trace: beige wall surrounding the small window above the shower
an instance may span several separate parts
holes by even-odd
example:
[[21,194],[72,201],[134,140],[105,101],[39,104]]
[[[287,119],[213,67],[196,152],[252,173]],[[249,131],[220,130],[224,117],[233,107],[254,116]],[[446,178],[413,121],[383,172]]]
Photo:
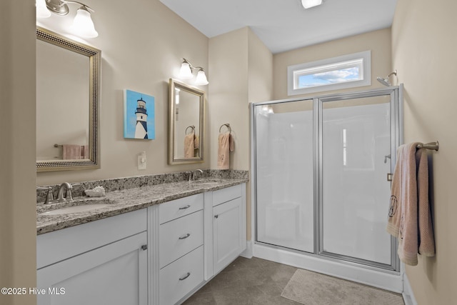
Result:
[[[371,86],[296,96],[287,95],[288,66],[368,50],[371,50]],[[376,81],[376,76],[386,76],[391,73],[391,29],[371,31],[365,34],[328,41],[323,44],[315,44],[301,49],[274,54],[273,63],[274,99],[289,99],[298,96],[317,96],[334,92],[361,91],[379,88],[383,85]]]

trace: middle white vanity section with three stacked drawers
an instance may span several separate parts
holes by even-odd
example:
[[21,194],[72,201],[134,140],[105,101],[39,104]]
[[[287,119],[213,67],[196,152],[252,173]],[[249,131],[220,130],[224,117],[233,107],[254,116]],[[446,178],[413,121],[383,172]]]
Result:
[[156,282],[151,304],[176,304],[204,281],[203,209],[203,194],[149,208],[150,222],[156,223],[151,244],[157,245],[151,252],[156,262],[151,264],[151,282]]

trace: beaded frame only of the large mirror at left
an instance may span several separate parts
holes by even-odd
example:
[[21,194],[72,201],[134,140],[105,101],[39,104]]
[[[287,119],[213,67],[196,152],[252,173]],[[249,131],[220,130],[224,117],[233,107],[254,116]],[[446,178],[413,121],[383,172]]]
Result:
[[36,171],[68,171],[74,169],[99,169],[99,77],[101,51],[81,44],[41,27],[36,28],[36,39],[89,57],[89,159],[36,161]]

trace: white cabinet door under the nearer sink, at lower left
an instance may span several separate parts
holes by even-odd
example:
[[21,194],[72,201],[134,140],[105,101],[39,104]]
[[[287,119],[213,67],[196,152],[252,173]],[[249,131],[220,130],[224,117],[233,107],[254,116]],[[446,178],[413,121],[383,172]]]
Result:
[[147,304],[146,232],[37,271],[38,305]]

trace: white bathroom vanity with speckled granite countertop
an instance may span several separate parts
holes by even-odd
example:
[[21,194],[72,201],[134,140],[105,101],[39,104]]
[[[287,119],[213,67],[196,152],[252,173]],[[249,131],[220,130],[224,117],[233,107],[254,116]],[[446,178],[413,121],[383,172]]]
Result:
[[41,211],[38,304],[180,304],[246,249],[245,182],[158,184],[109,192],[100,209]]

